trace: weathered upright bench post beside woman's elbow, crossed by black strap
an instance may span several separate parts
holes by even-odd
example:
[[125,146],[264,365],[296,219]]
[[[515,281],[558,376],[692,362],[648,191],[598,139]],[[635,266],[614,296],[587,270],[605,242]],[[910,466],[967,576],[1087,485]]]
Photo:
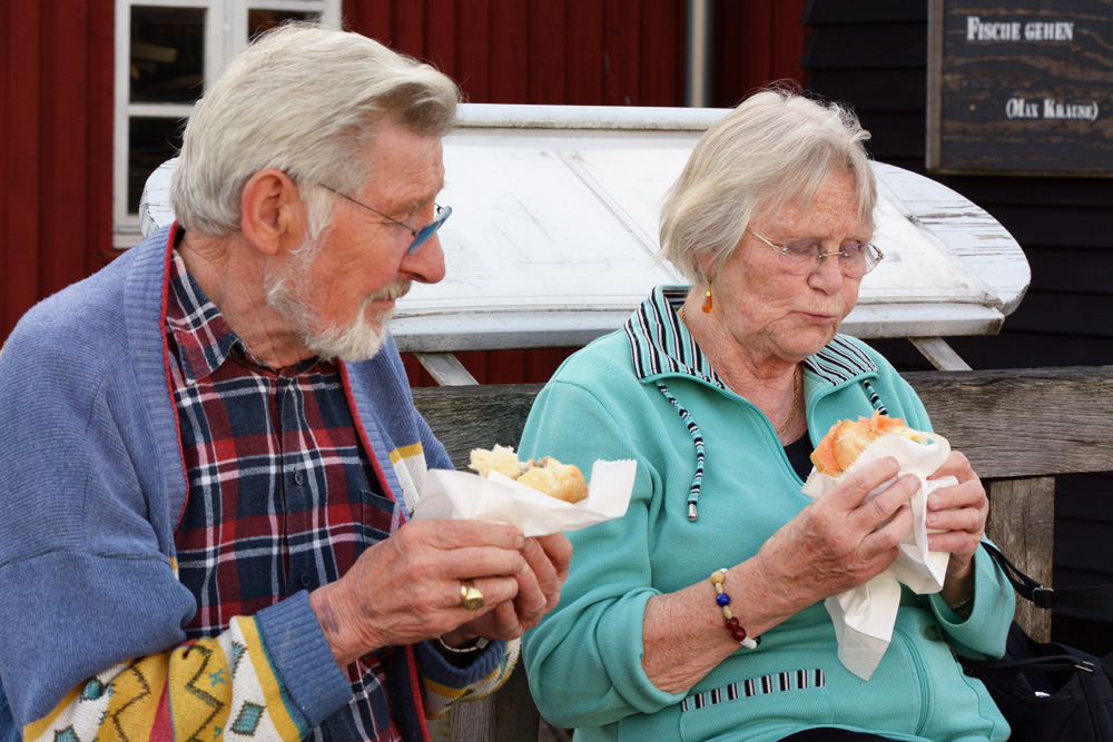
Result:
[[[989,523],[986,535],[1009,561],[1042,585],[1052,585],[1055,479],[989,482]],[[1051,611],[1016,598],[1016,622],[1040,642],[1051,641]]]

